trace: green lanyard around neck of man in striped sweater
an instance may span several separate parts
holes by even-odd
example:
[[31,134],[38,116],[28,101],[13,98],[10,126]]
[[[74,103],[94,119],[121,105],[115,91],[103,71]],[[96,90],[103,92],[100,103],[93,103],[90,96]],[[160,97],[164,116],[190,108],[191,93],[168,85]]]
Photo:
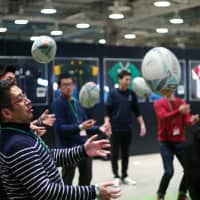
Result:
[[11,130],[11,131],[18,131],[24,135],[28,135],[30,137],[32,137],[33,139],[37,140],[49,153],[49,147],[47,146],[47,144],[45,144],[45,142],[41,139],[40,136],[32,133],[32,132],[28,132],[28,131],[23,131],[21,129],[18,128],[12,128],[12,127],[5,127],[5,128],[1,128],[1,130]]

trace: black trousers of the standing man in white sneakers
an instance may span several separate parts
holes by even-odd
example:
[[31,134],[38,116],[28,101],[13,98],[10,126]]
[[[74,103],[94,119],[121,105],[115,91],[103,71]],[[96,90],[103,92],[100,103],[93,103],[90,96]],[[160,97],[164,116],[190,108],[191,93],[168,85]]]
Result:
[[128,176],[128,160],[129,160],[129,149],[132,139],[131,131],[127,132],[113,132],[110,138],[111,141],[111,165],[112,171],[115,178],[119,178],[118,172],[118,160],[119,160],[119,153],[121,152],[121,159],[122,159],[122,172],[121,178],[125,178]]

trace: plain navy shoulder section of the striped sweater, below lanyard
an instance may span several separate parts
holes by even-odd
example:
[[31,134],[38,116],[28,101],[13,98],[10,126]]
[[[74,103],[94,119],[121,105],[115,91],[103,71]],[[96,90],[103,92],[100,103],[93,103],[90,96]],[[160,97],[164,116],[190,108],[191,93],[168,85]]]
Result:
[[22,150],[34,149],[38,144],[35,139],[23,134],[7,134],[0,143],[0,153],[7,157]]

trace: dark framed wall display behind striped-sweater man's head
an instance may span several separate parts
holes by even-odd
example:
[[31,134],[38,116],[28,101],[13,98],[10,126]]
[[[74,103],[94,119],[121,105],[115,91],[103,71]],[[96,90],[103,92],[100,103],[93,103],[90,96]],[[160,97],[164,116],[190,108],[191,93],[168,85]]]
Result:
[[35,62],[31,57],[22,56],[0,56],[0,65],[16,67],[17,84],[32,101],[33,106],[48,105],[46,65]]

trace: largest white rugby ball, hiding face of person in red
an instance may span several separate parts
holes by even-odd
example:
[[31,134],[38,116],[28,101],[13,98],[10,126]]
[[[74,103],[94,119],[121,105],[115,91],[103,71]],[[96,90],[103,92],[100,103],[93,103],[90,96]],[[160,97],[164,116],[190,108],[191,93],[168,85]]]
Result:
[[181,79],[181,67],[176,56],[167,48],[149,50],[142,61],[142,76],[154,92],[175,90]]

